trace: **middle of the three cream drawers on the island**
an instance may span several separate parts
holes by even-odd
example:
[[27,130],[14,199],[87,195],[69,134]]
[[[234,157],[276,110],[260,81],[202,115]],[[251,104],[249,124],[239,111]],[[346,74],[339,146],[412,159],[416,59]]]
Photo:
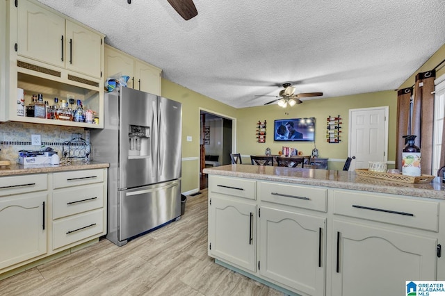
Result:
[[327,189],[325,188],[260,182],[258,192],[261,202],[273,202],[274,204],[321,212],[327,211]]

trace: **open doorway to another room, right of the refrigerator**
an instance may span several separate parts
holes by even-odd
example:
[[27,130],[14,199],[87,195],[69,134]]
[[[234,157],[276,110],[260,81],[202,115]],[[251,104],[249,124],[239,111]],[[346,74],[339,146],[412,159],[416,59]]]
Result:
[[234,118],[200,110],[200,190],[207,188],[205,167],[229,165],[234,147]]

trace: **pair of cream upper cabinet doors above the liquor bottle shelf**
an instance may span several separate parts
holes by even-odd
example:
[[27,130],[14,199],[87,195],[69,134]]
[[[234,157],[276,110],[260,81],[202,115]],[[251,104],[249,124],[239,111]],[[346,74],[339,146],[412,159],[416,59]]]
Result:
[[17,21],[17,54],[101,78],[101,35],[26,0]]

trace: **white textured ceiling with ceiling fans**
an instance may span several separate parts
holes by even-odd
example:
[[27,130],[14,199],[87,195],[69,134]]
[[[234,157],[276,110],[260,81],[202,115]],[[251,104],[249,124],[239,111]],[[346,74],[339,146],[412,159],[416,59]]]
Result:
[[[284,82],[328,98],[394,90],[445,43],[444,0],[40,0],[179,85],[241,108]],[[305,101],[306,99],[302,99]]]

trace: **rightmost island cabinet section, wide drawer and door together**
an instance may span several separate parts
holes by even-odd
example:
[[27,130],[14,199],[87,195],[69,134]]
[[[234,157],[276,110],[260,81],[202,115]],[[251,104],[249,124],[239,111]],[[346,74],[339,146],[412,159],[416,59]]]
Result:
[[439,202],[332,190],[331,294],[401,295],[437,279]]

